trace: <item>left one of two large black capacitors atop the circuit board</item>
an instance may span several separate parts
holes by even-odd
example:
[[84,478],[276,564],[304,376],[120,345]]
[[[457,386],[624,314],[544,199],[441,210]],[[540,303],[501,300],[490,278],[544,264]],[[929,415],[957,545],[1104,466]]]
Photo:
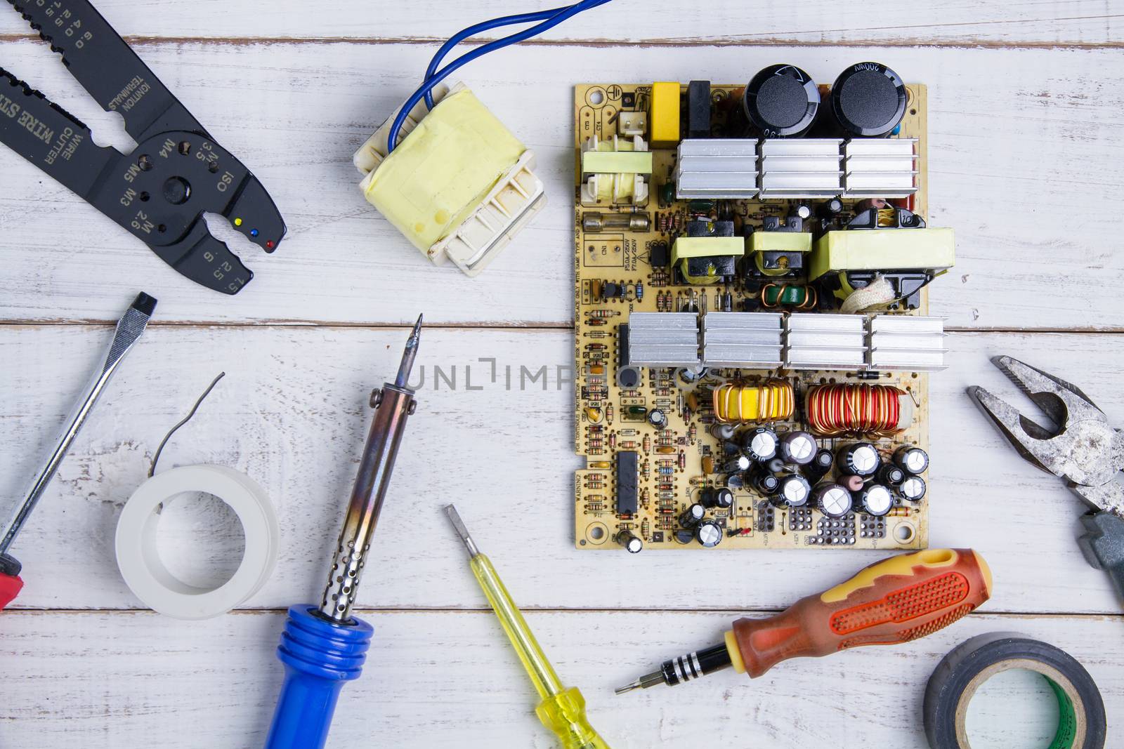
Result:
[[740,109],[747,129],[755,134],[767,138],[799,137],[816,119],[819,89],[796,65],[770,65],[746,84]]

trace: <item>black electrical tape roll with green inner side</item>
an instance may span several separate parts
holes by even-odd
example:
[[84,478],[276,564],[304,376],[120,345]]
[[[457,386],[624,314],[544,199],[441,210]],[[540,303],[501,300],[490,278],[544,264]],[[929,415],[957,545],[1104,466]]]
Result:
[[925,736],[933,749],[969,749],[968,703],[991,676],[1013,668],[1041,674],[1058,698],[1058,731],[1049,749],[1102,749],[1105,703],[1081,664],[1064,650],[1015,632],[989,632],[961,642],[925,687]]

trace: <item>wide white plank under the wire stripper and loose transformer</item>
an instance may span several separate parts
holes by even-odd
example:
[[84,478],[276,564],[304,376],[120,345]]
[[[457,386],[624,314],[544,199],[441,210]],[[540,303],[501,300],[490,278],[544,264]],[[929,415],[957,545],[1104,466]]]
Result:
[[[359,193],[351,154],[416,83],[432,47],[404,44],[158,43],[140,54],[273,194],[290,234],[239,252],[256,272],[228,299],[170,271],[75,195],[0,148],[4,316],[109,320],[120,287],[162,300],[160,320],[564,326],[571,320],[571,86],[637,79],[741,80],[797,60],[831,80],[874,57],[930,91],[931,225],[957,231],[957,267],[933,312],[968,329],[1120,330],[1113,216],[1124,193],[1124,65],[1117,49],[868,47],[518,47],[465,68],[481,99],[538,154],[547,208],[472,280],[434,270]],[[107,117],[38,42],[4,44],[4,65],[92,124]],[[565,61],[565,64],[560,64]],[[110,121],[112,118],[108,118]],[[106,133],[106,130],[101,130]],[[228,228],[228,227],[227,227]],[[229,229],[229,228],[228,228]],[[244,243],[248,245],[248,243]],[[107,283],[89,283],[90,278]],[[108,281],[112,283],[108,283]],[[1062,280],[1064,285],[1061,285]],[[437,291],[439,290],[439,292]],[[405,309],[410,307],[410,309]]]

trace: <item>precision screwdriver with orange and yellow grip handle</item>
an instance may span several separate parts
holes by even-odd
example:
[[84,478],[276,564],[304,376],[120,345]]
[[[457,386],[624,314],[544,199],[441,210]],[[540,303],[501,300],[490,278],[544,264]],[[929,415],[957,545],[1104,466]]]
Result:
[[991,596],[991,570],[971,549],[927,549],[883,559],[845,583],[768,619],[738,619],[722,645],[663,661],[617,689],[674,686],[733,666],[756,678],[788,658],[932,634]]

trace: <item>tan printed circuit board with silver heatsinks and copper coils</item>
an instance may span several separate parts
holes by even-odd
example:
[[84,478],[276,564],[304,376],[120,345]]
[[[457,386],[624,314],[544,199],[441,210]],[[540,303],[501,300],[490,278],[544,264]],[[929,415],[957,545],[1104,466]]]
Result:
[[746,86],[575,86],[578,548],[926,546],[925,284],[951,261],[886,258],[951,230],[925,228],[925,88],[901,89],[888,137],[812,137],[821,111],[771,138]]

